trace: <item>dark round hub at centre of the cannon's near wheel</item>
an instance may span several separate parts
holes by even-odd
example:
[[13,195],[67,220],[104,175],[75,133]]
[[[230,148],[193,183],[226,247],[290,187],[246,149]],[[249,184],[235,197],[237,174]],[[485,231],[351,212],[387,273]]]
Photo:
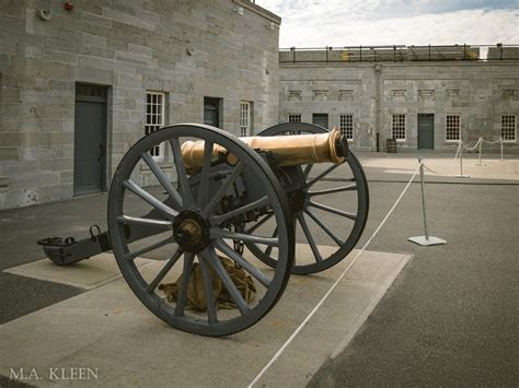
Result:
[[173,237],[183,250],[196,254],[209,245],[209,223],[197,212],[183,211],[173,221]]

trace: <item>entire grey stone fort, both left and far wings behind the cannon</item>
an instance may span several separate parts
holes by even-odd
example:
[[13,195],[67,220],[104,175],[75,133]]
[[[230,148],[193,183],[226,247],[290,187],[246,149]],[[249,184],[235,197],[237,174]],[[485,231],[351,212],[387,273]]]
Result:
[[104,191],[131,144],[175,122],[519,152],[517,47],[278,51],[280,19],[250,0],[0,1],[0,209]]

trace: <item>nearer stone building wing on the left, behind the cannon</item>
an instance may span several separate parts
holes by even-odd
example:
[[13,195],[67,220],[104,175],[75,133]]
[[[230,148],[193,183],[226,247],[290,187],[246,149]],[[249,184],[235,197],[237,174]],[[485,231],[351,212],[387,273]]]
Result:
[[246,0],[1,0],[0,209],[106,190],[168,124],[276,124],[279,23]]

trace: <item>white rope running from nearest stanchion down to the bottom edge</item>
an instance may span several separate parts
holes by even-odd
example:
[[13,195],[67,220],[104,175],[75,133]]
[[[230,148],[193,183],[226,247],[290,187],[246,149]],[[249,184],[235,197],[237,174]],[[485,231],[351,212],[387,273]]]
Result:
[[274,356],[270,358],[270,361],[264,366],[264,368],[257,374],[257,376],[249,384],[249,388],[251,388],[252,386],[254,386],[254,384],[256,384],[260,378],[265,374],[265,372],[268,371],[268,368],[279,358],[279,356],[281,355],[281,353],[285,351],[285,349],[287,349],[287,346],[293,341],[293,339],[296,338],[296,336],[303,329],[303,327],[308,324],[308,321],[310,320],[310,318],[312,318],[314,316],[314,314],[318,311],[319,307],[321,307],[321,305],[324,303],[324,301],[328,297],[328,295],[332,293],[332,291],[334,291],[334,289],[337,286],[337,284],[343,280],[343,278],[346,275],[346,273],[349,271],[349,269],[353,267],[353,264],[355,264],[355,262],[357,261],[357,259],[360,257],[360,255],[362,255],[362,252],[365,251],[366,247],[369,245],[369,243],[371,243],[371,240],[374,238],[374,236],[377,236],[377,234],[379,233],[379,231],[382,228],[382,225],[385,223],[385,221],[389,219],[389,216],[391,215],[391,213],[394,211],[394,209],[396,208],[396,205],[399,204],[400,200],[402,199],[402,197],[404,197],[404,193],[405,191],[407,191],[407,189],[410,188],[411,184],[413,183],[416,174],[418,173],[419,171],[419,167],[424,164],[424,161],[422,161],[418,165],[418,167],[416,167],[413,176],[411,177],[410,181],[407,183],[407,185],[405,186],[404,190],[402,191],[402,193],[400,195],[399,199],[396,200],[396,202],[394,202],[393,207],[390,209],[390,211],[388,212],[388,214],[385,215],[385,217],[382,220],[382,222],[380,223],[380,225],[377,227],[377,230],[373,232],[373,234],[371,235],[371,237],[369,237],[369,239],[366,242],[366,244],[362,246],[362,248],[357,252],[357,255],[353,258],[351,262],[348,264],[348,267],[346,267],[346,269],[343,271],[343,273],[337,278],[337,280],[335,281],[335,283],[333,283],[332,287],[326,292],[326,294],[324,294],[324,296],[321,298],[321,301],[319,301],[319,303],[315,305],[315,307],[310,311],[310,314],[307,316],[307,318],[304,318],[304,320],[299,325],[299,327],[296,329],[296,331],[292,332],[292,334],[288,338],[287,341],[285,341],[285,343],[282,344],[282,346],[277,351],[276,354],[274,354]]

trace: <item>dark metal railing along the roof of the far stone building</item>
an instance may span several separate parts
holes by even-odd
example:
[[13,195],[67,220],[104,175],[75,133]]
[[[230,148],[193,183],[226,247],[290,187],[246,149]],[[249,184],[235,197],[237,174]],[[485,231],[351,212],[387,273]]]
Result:
[[280,48],[280,63],[519,60],[519,45],[344,46]]

